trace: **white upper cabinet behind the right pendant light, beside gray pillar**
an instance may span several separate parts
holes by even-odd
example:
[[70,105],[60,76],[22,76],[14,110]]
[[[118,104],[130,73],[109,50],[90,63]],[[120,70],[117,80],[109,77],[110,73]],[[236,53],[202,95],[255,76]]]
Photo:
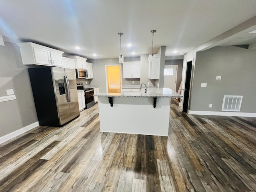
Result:
[[155,54],[155,58],[151,62],[148,56],[148,78],[149,79],[159,79],[160,74],[160,54]]

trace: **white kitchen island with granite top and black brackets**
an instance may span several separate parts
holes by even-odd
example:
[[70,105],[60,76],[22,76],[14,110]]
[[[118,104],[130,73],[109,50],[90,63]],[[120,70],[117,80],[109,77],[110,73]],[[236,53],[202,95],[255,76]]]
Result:
[[180,94],[169,88],[144,93],[98,93],[100,131],[168,136],[170,99]]

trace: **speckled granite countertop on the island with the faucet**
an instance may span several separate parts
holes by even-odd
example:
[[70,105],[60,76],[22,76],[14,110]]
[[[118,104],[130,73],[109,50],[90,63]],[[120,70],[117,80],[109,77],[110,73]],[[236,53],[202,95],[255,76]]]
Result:
[[174,92],[169,88],[147,88],[147,93],[144,89],[140,93],[97,93],[94,96],[98,97],[168,97],[168,98],[181,98],[180,94]]

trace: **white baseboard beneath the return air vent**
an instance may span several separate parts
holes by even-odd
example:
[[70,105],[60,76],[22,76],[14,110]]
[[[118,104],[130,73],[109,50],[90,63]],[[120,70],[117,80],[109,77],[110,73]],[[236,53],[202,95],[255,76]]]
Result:
[[218,115],[218,116],[238,116],[238,117],[256,117],[256,113],[241,113],[241,112],[218,112],[218,111],[190,111],[190,115]]

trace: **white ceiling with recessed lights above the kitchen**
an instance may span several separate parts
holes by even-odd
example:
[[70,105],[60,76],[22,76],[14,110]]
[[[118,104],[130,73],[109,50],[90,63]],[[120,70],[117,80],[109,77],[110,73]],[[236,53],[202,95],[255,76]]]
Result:
[[[154,53],[166,46],[173,56],[254,16],[256,0],[0,0],[0,35],[86,58],[117,58],[118,32],[122,55],[131,57],[151,53],[154,29]],[[256,40],[249,38],[246,43]]]

